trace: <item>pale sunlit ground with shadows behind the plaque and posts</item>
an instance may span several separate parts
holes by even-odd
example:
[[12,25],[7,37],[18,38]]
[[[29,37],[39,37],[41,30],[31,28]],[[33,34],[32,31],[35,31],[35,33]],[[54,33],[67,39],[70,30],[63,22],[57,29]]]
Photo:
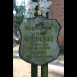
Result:
[[[13,77],[31,77],[31,64],[19,57],[19,45],[13,47]],[[38,66],[38,77],[41,77],[41,66]],[[48,64],[48,77],[64,77],[64,55]]]

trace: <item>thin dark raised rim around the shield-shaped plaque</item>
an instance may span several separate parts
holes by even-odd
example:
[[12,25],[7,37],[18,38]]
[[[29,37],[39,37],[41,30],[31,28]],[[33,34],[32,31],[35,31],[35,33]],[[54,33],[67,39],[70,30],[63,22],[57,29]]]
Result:
[[[42,17],[42,16],[37,16],[37,17]],[[19,27],[20,27],[20,25],[22,24],[22,22],[23,22],[24,19],[29,20],[29,19],[34,19],[34,18],[37,18],[37,17],[33,17],[33,18],[23,18],[22,21],[21,21],[21,23],[20,23],[19,26],[18,26],[18,30],[19,30],[19,33],[20,33],[20,45],[19,45],[19,50],[18,50],[18,52],[19,52],[19,57],[20,57],[22,60],[24,60],[24,59],[20,56],[20,47],[21,47],[21,41],[22,41],[22,34],[21,34],[21,31],[20,31],[20,28],[19,28]],[[60,25],[60,23],[59,23],[56,19],[49,19],[49,18],[46,18],[46,17],[43,17],[43,18],[45,18],[45,19],[47,19],[47,20],[52,20],[52,22],[55,20],[55,21],[59,24],[59,27],[60,27],[60,28],[59,28],[58,35],[57,35],[57,44],[58,44],[58,46],[59,46],[59,53],[58,53],[58,56],[59,56],[59,54],[60,54],[60,45],[59,45],[59,42],[58,42],[58,36],[59,36],[60,30],[61,30],[61,25]],[[57,56],[55,59],[57,59],[58,56]],[[53,59],[52,61],[46,62],[46,63],[44,63],[44,64],[53,62],[55,59]],[[33,63],[33,62],[28,62],[27,60],[24,60],[24,61],[26,61],[27,63],[30,63],[30,64],[39,65],[39,64],[35,64],[35,63]],[[40,65],[44,65],[44,64],[40,64]]]

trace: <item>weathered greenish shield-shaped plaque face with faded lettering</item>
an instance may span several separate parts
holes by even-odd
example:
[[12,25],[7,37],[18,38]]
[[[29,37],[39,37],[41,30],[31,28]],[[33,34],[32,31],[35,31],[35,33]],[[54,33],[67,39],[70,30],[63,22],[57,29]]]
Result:
[[32,19],[24,18],[19,31],[21,34],[19,56],[23,60],[43,65],[58,57],[60,25],[56,20],[41,16]]

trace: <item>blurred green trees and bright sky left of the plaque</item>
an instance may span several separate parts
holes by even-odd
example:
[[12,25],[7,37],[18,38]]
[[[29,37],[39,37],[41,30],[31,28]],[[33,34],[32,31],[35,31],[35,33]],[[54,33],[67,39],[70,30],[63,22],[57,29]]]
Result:
[[25,0],[13,0],[13,44],[19,43],[20,34],[18,26],[23,20],[25,13]]

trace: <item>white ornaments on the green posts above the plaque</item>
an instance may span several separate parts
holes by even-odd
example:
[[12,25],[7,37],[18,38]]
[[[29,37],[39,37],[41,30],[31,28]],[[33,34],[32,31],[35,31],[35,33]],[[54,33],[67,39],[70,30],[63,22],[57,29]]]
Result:
[[42,13],[43,17],[46,17],[46,13],[49,12],[48,8],[49,6],[52,4],[51,1],[39,1],[39,2],[33,2],[33,1],[28,1],[28,3],[26,4],[26,11],[27,11],[27,16],[25,15],[26,18],[33,18],[35,17],[34,14],[35,12],[37,12],[35,10],[37,5],[40,5],[40,12]]

